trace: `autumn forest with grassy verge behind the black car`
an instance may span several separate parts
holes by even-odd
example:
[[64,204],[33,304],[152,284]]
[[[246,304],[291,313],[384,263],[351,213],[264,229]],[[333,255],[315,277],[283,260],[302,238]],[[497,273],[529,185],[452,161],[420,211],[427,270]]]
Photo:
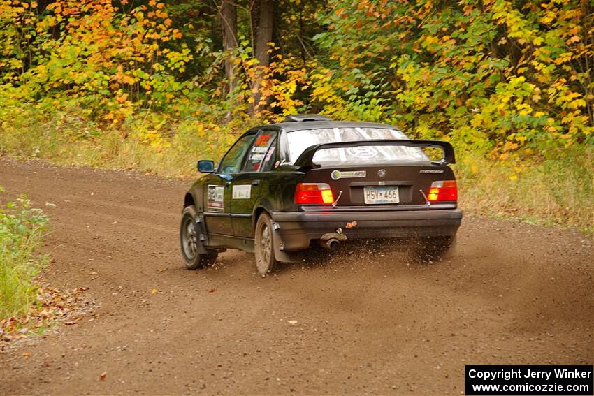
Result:
[[0,149],[193,177],[286,115],[450,141],[465,210],[593,230],[591,0],[0,0]]

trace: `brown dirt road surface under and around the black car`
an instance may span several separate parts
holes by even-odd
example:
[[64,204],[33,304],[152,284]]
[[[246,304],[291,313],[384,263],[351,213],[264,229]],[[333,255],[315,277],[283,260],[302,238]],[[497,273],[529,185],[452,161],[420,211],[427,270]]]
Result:
[[468,363],[594,361],[593,244],[577,231],[466,217],[457,256],[431,265],[361,251],[261,279],[227,251],[189,271],[187,182],[0,165],[4,201],[56,205],[45,280],[96,300],[1,352],[3,395],[460,395]]

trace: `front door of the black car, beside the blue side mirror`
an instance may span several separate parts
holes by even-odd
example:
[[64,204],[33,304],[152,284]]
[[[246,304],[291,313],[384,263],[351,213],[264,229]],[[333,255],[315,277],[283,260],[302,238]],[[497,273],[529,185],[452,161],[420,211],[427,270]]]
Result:
[[204,217],[209,234],[233,235],[231,221],[231,182],[241,169],[243,159],[252,146],[255,133],[243,135],[223,157],[217,172],[204,181]]

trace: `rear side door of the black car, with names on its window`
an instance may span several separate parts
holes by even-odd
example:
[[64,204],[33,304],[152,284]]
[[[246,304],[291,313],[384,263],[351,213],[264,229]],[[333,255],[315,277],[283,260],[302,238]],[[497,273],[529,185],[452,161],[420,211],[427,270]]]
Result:
[[[277,131],[261,129],[250,146],[240,173],[233,175],[231,193],[231,221],[237,237],[254,237],[252,213],[254,205],[266,185],[263,179],[275,161]],[[265,170],[263,172],[262,170]]]

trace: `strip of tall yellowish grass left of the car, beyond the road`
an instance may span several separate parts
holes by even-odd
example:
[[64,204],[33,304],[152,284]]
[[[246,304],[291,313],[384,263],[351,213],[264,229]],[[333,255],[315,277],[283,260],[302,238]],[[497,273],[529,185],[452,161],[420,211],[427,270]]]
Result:
[[126,131],[122,133],[115,129],[101,131],[77,117],[59,119],[29,120],[10,126],[5,122],[0,152],[62,166],[133,169],[184,177],[194,174],[196,160],[216,161],[238,137],[197,121],[176,124],[163,136],[147,129],[143,120],[122,127]]

